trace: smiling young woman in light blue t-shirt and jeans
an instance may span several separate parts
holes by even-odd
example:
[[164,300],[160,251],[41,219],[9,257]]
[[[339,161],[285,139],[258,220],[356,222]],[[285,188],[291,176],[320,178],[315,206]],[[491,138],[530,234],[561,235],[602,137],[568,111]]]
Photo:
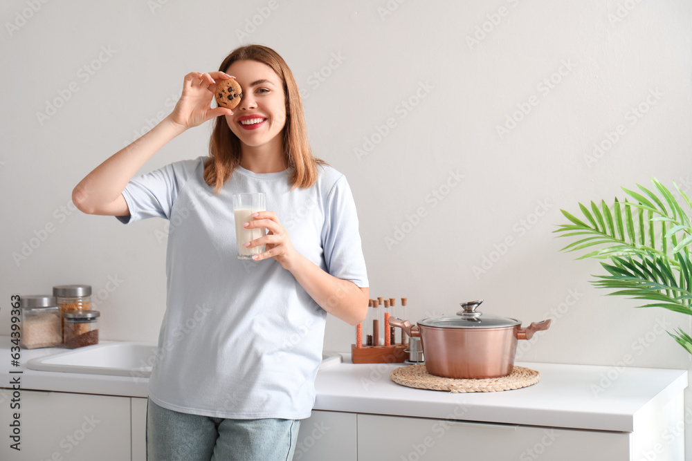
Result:
[[[212,108],[235,76],[240,104]],[[210,155],[133,178],[164,144],[215,118]],[[237,258],[232,196],[264,192],[244,227],[266,229]],[[367,275],[345,177],[313,158],[298,86],[264,46],[185,76],[173,112],[73,191],[88,214],[171,220],[167,308],[149,379],[149,460],[290,460],[314,403],[327,313],[365,317]],[[192,320],[191,320],[192,319]],[[190,327],[192,325],[192,327]]]

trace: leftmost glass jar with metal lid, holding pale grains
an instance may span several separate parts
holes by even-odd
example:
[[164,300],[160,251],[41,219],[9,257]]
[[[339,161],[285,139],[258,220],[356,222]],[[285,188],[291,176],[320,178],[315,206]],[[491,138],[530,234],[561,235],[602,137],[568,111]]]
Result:
[[21,347],[52,348],[62,344],[62,314],[54,297],[48,294],[23,296],[19,299],[19,308]]

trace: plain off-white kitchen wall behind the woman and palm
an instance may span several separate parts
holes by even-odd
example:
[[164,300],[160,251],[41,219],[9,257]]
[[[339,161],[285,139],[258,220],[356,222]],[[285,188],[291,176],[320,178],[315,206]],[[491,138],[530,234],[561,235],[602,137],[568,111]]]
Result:
[[[689,368],[659,327],[689,317],[604,297],[599,265],[552,234],[561,208],[650,176],[692,191],[689,1],[12,0],[0,18],[0,333],[10,294],[89,283],[103,339],[156,341],[166,223],[84,216],[71,191],[172,109],[185,73],[256,42],[289,63],[313,149],[349,178],[372,297],[408,297],[412,320],[477,298],[552,317],[523,361]],[[204,155],[209,130],[143,171]],[[326,348],[353,338],[330,319]]]

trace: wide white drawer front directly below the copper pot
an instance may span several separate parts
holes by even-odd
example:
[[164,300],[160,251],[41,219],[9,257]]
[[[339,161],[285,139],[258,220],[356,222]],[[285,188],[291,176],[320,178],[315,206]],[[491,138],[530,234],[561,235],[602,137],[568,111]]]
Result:
[[358,415],[358,461],[629,461],[629,453],[629,433]]

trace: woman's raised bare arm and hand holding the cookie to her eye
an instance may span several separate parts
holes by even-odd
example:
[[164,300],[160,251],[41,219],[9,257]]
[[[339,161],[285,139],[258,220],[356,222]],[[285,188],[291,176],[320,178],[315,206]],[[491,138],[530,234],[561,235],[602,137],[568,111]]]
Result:
[[192,126],[219,115],[233,114],[233,111],[224,107],[210,107],[216,88],[215,79],[228,78],[230,76],[222,72],[192,72],[185,75],[183,93],[172,113],[86,175],[72,192],[75,206],[86,214],[129,215],[122,191],[149,158]]

